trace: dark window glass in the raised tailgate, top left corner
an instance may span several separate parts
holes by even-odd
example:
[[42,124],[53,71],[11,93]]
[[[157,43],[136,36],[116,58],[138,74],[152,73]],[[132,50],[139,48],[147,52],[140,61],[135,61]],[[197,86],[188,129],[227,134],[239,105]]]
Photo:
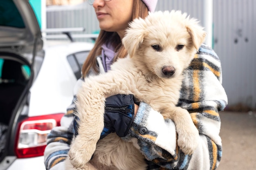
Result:
[[0,0],[0,25],[25,28],[22,17],[12,0]]

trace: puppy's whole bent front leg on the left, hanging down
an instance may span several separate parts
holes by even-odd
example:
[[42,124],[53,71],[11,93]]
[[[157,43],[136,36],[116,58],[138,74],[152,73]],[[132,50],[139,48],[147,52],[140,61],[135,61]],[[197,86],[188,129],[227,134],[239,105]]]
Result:
[[[124,73],[124,72],[122,72]],[[106,73],[108,74],[108,73]],[[82,168],[90,161],[101,132],[104,128],[105,100],[116,94],[132,94],[126,79],[121,75],[109,73],[85,79],[77,93],[76,114],[79,117],[78,136],[72,142],[69,155],[72,165]]]

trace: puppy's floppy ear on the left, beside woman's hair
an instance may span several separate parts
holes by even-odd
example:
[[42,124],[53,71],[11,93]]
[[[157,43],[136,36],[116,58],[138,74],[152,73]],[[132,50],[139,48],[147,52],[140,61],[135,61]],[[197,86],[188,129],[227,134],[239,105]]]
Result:
[[145,37],[144,21],[139,18],[130,23],[130,28],[126,29],[126,35],[122,39],[122,43],[130,57],[132,57],[139,45],[143,42]]

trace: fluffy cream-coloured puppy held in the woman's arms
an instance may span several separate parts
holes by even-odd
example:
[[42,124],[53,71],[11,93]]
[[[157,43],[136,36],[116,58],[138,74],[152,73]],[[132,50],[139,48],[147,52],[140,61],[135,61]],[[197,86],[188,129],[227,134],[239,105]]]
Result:
[[66,168],[146,169],[145,157],[131,142],[123,141],[116,133],[99,140],[104,127],[105,100],[116,94],[133,94],[172,119],[177,145],[191,155],[198,146],[199,133],[188,111],[175,105],[184,70],[205,36],[198,21],[180,11],[157,11],[132,21],[122,39],[128,56],[112,64],[108,73],[87,77],[77,94],[79,135],[72,141]]

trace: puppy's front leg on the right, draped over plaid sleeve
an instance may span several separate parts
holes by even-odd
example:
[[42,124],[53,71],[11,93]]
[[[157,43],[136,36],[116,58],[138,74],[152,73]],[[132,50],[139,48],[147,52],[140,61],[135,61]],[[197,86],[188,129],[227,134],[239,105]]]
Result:
[[174,107],[168,108],[162,115],[174,121],[178,134],[177,144],[184,154],[191,155],[198,146],[199,132],[189,112],[183,108]]

